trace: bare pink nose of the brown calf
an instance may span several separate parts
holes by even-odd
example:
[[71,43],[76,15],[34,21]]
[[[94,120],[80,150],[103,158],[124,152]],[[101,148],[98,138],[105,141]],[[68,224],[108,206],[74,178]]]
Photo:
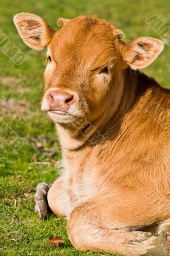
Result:
[[68,111],[70,105],[73,104],[73,95],[63,90],[52,90],[47,95],[50,110]]

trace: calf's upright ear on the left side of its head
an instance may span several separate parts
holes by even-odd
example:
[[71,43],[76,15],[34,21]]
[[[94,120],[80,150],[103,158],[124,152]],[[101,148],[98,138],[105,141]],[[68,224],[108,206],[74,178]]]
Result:
[[45,20],[32,13],[19,13],[13,22],[25,44],[36,51],[46,47],[55,33]]

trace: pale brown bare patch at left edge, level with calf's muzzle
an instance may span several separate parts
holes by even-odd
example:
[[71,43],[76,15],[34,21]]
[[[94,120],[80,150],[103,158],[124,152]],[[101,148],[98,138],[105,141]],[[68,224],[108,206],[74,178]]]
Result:
[[0,116],[7,115],[15,119],[33,117],[35,113],[31,113],[29,106],[30,104],[26,100],[0,99]]

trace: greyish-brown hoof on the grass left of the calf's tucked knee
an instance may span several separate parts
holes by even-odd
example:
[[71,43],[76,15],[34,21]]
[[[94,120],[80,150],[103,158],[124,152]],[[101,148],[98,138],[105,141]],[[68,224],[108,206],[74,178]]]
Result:
[[34,195],[35,212],[40,216],[40,220],[44,220],[47,215],[47,193],[50,185],[41,182],[36,187],[36,194]]

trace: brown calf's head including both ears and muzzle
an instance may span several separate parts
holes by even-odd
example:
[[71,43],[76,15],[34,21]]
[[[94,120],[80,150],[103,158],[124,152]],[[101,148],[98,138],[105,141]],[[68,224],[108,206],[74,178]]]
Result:
[[96,17],[59,19],[59,31],[31,13],[15,15],[14,22],[29,47],[47,47],[42,110],[63,125],[82,117],[93,122],[116,108],[123,69],[148,66],[164,48],[147,36],[125,44],[120,29]]

